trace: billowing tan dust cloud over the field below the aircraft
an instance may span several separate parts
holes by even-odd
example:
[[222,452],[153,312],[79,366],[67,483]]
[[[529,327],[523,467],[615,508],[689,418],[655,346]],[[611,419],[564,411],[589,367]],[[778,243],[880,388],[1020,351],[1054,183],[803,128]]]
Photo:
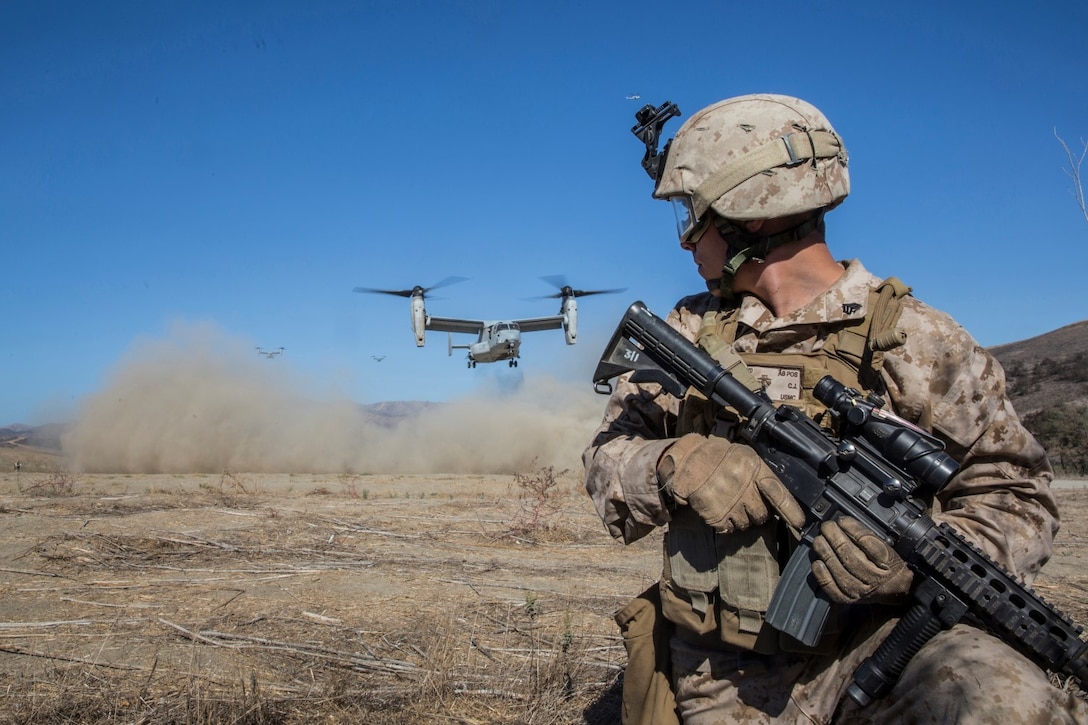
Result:
[[64,437],[84,472],[512,474],[581,469],[605,398],[527,378],[381,421],[269,365],[207,323],[146,340],[86,398]]

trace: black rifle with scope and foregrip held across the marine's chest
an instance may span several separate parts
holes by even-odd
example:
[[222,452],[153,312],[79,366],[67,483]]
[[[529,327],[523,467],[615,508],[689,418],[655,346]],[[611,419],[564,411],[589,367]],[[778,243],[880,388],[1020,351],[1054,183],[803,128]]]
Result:
[[863,396],[830,376],[814,390],[836,423],[836,431],[826,430],[795,407],[776,406],[751,376],[745,385],[739,358],[726,362],[738,374],[635,302],[601,357],[594,389],[608,394],[611,378],[632,371],[634,382],[656,382],[677,397],[694,388],[740,414],[741,438],[807,518],[766,614],[776,629],[808,646],[823,632],[831,603],[811,565],[823,521],[852,516],[905,560],[915,574],[912,604],[854,673],[846,691],[855,702],[865,706],[887,695],[930,638],[968,614],[1039,667],[1088,681],[1081,628],[951,526],[929,517],[925,500],[959,470],[938,439],[885,411],[879,396]]

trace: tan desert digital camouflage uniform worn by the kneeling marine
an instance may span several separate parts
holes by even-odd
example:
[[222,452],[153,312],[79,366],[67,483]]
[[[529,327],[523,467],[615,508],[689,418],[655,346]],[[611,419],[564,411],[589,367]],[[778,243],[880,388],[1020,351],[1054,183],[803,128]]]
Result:
[[[782,319],[744,296],[733,348],[742,357],[812,353],[837,323],[865,317],[869,291],[880,280],[857,261],[845,266],[828,292]],[[934,503],[934,518],[1030,583],[1058,530],[1046,454],[1013,410],[997,361],[948,315],[913,297],[902,303],[898,327],[906,342],[885,353],[880,370],[889,407],[938,435],[961,464]],[[667,321],[694,340],[704,314],[719,304],[708,293],[687,297]],[[656,384],[621,378],[583,454],[586,490],[609,532],[625,543],[676,515],[656,468],[676,441],[682,406]],[[669,600],[676,611],[683,595],[668,574],[666,561],[660,594],[676,626],[672,686],[685,723],[1088,723],[1081,701],[1051,687],[1046,673],[1003,642],[963,624],[926,644],[889,696],[858,710],[845,688],[901,609],[854,605],[848,628],[820,652],[755,652],[685,630],[687,620],[670,614]]]

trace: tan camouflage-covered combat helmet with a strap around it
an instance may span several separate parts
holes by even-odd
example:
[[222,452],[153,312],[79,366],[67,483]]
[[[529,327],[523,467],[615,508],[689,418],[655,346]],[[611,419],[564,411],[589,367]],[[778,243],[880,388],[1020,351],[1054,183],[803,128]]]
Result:
[[738,221],[775,219],[831,209],[850,194],[846,148],[831,123],[811,103],[774,94],[695,113],[670,142],[657,181],[654,197],[673,201],[678,223],[689,229],[707,210]]

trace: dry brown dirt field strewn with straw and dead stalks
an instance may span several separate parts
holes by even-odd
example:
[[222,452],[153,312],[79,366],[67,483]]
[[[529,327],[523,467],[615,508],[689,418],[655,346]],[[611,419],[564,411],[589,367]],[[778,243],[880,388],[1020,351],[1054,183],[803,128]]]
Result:
[[[659,568],[573,474],[0,474],[0,723],[608,723]],[[1088,622],[1088,489],[1036,589]]]

